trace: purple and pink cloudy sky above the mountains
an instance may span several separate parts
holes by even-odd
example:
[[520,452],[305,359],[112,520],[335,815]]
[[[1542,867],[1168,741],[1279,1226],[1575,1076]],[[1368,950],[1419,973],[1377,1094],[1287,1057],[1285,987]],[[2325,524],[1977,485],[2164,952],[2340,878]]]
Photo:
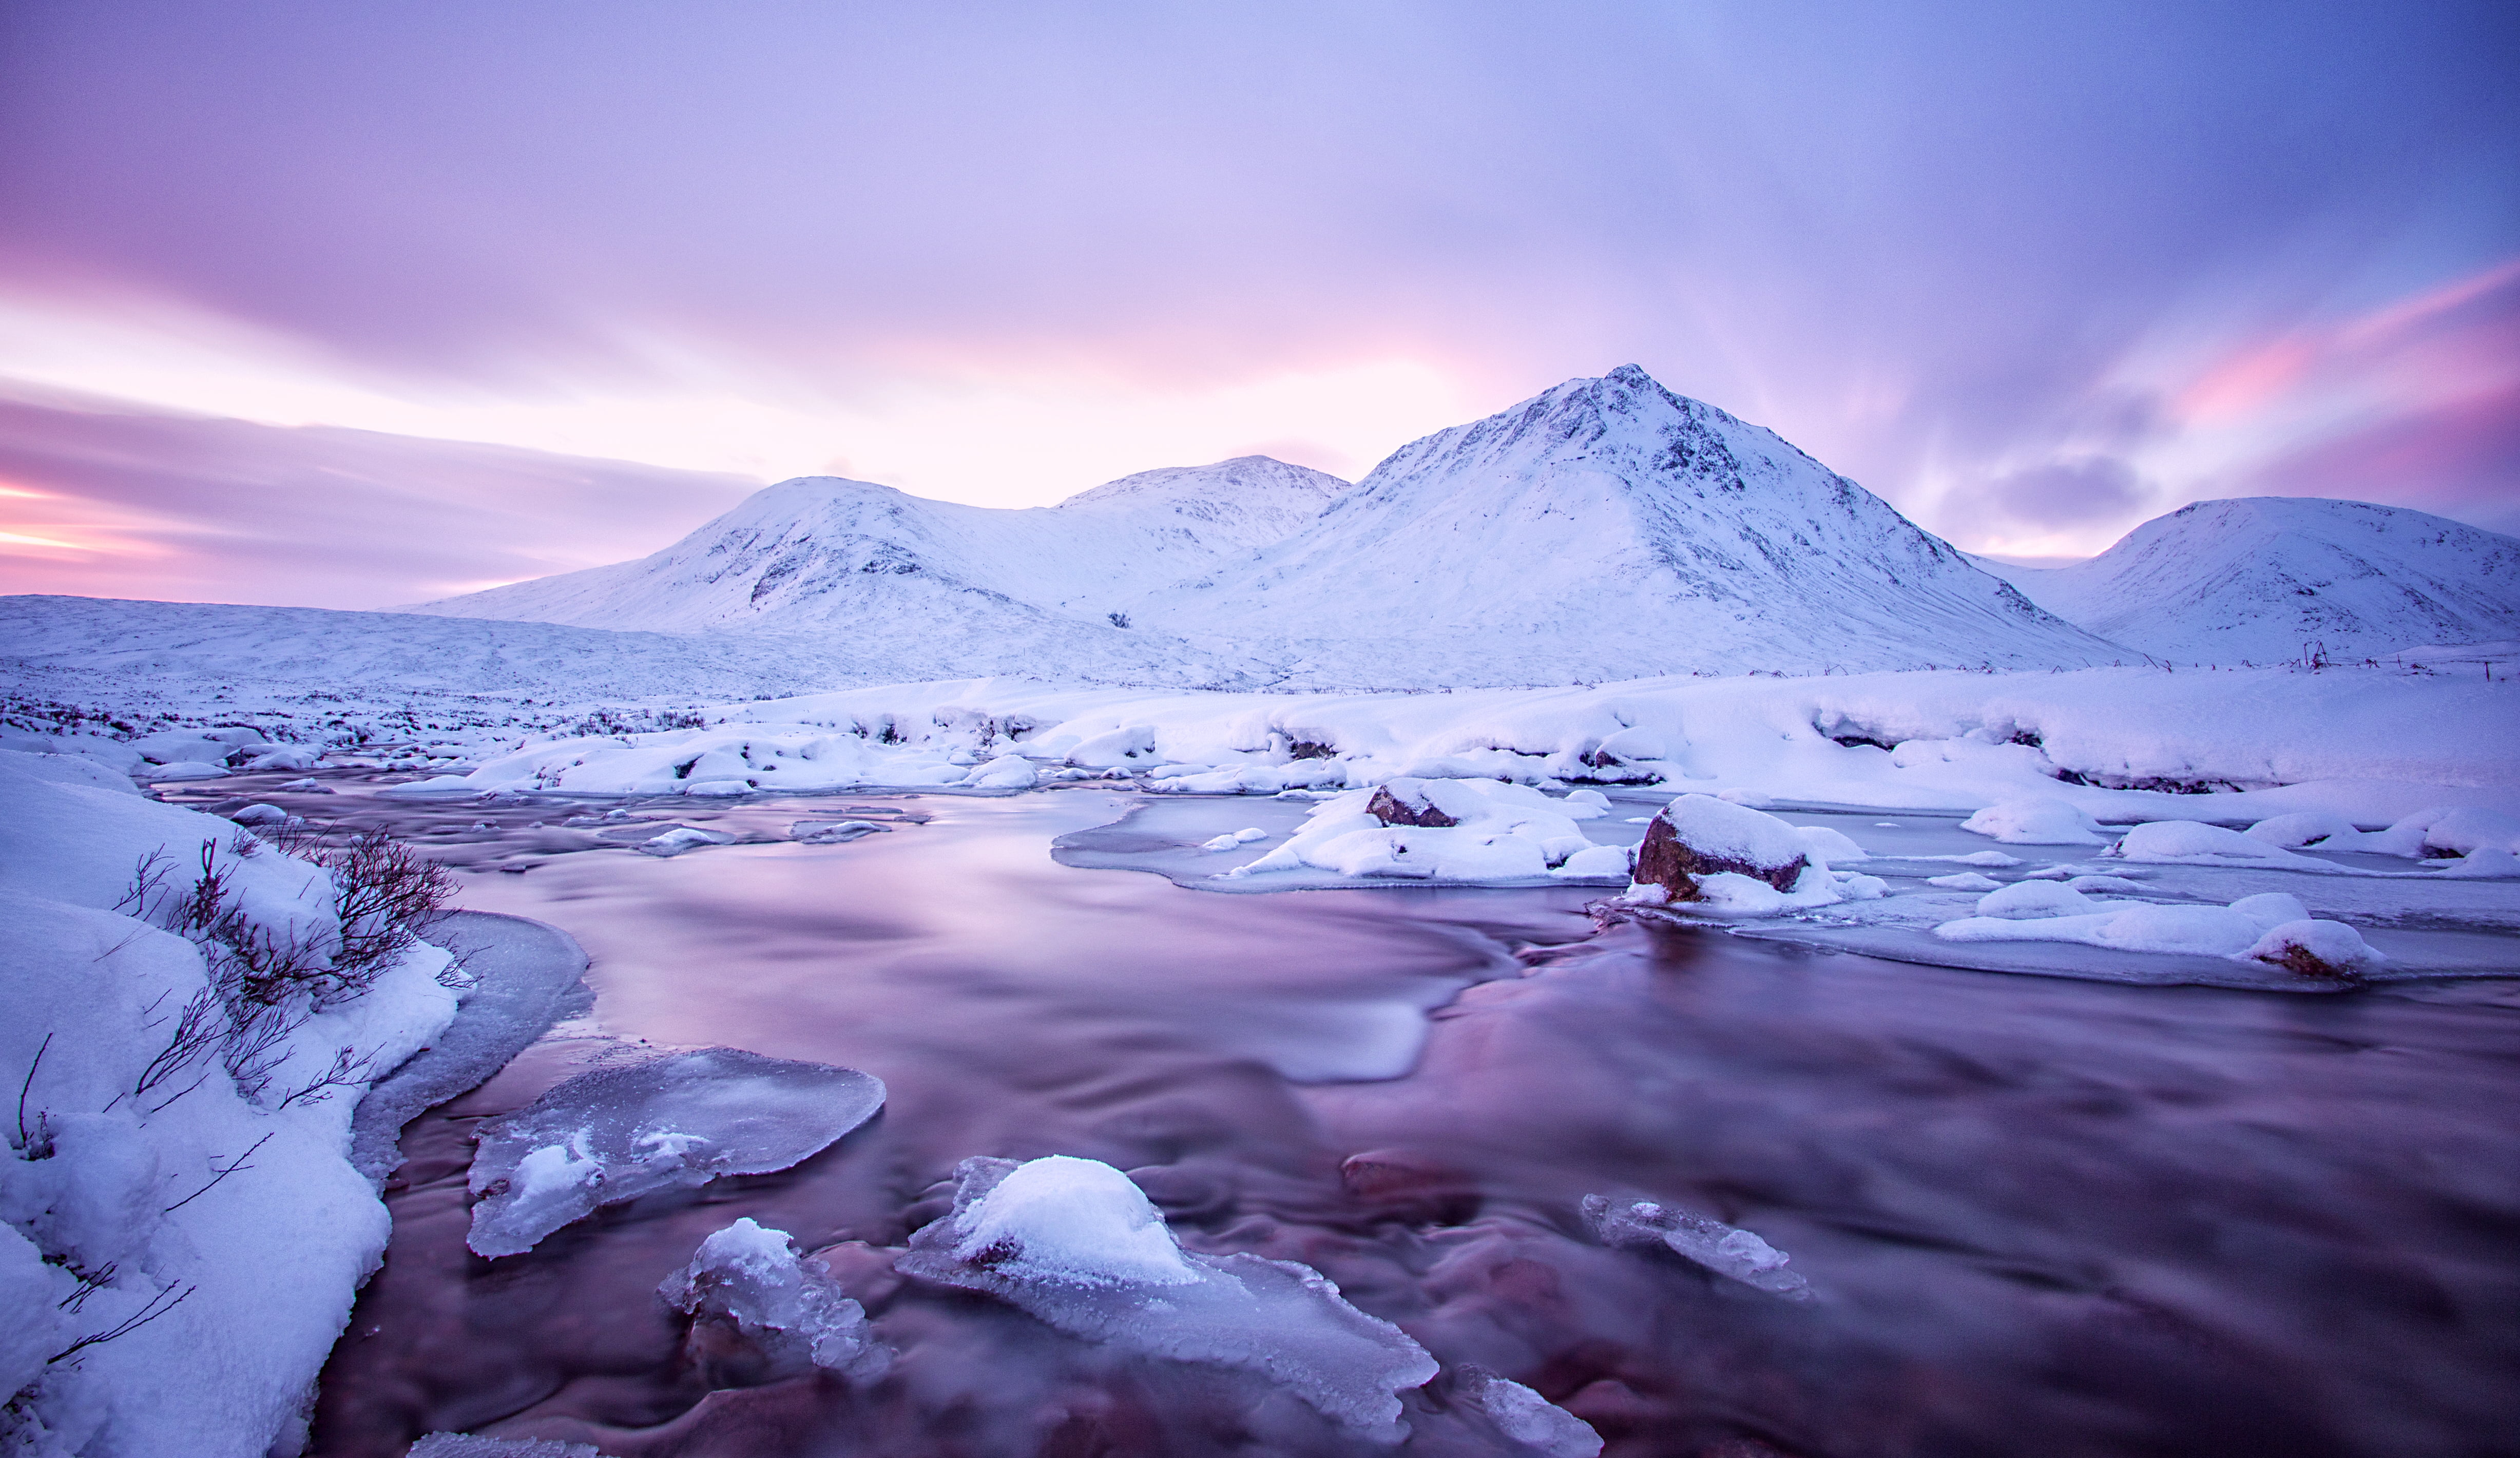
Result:
[[1950,541],[2520,531],[2507,3],[0,8],[0,592],[386,607],[1638,363]]

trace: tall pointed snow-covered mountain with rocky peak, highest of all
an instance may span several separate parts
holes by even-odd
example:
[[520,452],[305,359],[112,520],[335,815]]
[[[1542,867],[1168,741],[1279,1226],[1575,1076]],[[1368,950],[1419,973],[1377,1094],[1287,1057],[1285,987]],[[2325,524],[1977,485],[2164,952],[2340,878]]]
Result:
[[1635,365],[1404,446],[1303,531],[1131,614],[1323,685],[2127,657]]

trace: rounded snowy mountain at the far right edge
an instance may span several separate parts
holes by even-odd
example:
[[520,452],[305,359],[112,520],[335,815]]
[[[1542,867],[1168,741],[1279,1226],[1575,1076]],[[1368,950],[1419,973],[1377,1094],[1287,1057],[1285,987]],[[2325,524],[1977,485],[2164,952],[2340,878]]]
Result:
[[2520,637],[2520,539],[2369,501],[2197,501],[2092,562],[1986,569],[2056,617],[2175,662]]

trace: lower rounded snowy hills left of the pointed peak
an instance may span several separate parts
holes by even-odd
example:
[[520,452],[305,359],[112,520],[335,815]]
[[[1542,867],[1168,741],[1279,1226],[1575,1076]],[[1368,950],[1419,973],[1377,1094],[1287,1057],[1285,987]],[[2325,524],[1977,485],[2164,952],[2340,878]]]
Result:
[[[1021,511],[799,476],[655,557],[413,612],[655,632],[814,630],[849,645],[920,637],[940,650],[1018,632],[1056,640],[1074,667],[1099,667],[1114,652],[1137,657],[1101,642],[1116,632],[1111,612],[1278,541],[1346,489],[1268,456],[1142,471]],[[1096,637],[1066,624],[1091,624]]]

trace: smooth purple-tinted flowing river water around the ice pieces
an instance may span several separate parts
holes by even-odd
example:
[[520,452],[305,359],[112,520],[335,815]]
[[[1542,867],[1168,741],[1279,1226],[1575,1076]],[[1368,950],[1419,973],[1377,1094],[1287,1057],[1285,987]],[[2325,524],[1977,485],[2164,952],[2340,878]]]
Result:
[[[2520,985],[2281,997],[1595,937],[1578,889],[1215,896],[1051,861],[1119,793],[862,803],[930,818],[529,874],[489,869],[562,849],[527,811],[459,826],[466,904],[570,929],[600,1002],[406,1133],[318,1453],[441,1428],[615,1455],[1353,1450],[1217,1370],[892,1277],[975,1153],[1126,1168],[1184,1244],[1318,1267],[1618,1455],[2520,1450]],[[474,1123],[622,1040],[844,1063],[890,1105],[799,1168],[471,1257]],[[1749,1226],[1817,1299],[1603,1249],[1585,1194]],[[832,1259],[892,1375],[685,1342],[655,1287],[736,1216]],[[1409,1453],[1494,1450],[1431,1418]]]

